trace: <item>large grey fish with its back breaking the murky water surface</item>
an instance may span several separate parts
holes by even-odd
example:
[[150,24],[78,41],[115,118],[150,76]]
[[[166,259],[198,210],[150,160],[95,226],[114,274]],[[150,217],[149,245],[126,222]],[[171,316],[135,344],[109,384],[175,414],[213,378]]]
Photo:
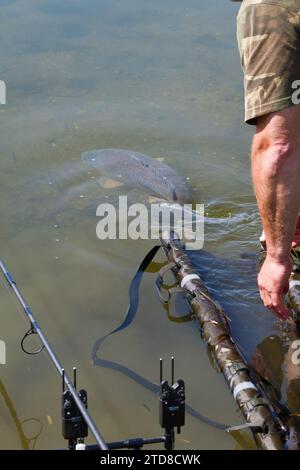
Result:
[[147,191],[169,202],[191,200],[185,178],[161,161],[133,150],[98,149],[83,152],[81,159],[114,180]]

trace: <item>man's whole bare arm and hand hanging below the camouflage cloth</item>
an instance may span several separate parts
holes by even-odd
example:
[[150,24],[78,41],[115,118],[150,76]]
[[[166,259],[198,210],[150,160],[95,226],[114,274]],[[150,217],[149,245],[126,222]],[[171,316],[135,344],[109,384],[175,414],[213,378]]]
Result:
[[290,248],[300,211],[300,106],[258,118],[252,175],[267,243],[258,285],[265,306],[284,319],[289,311],[282,295],[288,290]]

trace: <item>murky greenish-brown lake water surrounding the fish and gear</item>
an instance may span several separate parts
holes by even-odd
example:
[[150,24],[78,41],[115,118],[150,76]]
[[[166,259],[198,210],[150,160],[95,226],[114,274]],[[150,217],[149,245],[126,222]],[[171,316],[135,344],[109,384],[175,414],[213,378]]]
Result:
[[[205,204],[207,216],[208,254],[193,257],[245,354],[251,359],[265,338],[280,337],[261,307],[251,257],[260,223],[249,175],[252,131],[242,123],[237,5],[1,0],[0,6],[0,79],[7,84],[0,107],[1,256],[67,370],[77,366],[105,438],[160,435],[156,396],[90,361],[94,342],[121,321],[131,277],[153,243],[96,238],[96,207],[116,202],[119,188],[101,188],[80,154],[134,149],[190,178],[193,200]],[[129,197],[144,196],[133,190]],[[189,405],[220,423],[241,422],[196,325],[168,320],[154,279],[145,275],[136,321],[107,341],[102,357],[157,383],[159,357],[175,355]],[[61,448],[59,380],[44,354],[20,351],[28,325],[2,286],[0,308],[7,345],[1,448]],[[18,423],[25,436],[39,434],[36,440],[28,442]],[[177,448],[240,444],[188,415]]]

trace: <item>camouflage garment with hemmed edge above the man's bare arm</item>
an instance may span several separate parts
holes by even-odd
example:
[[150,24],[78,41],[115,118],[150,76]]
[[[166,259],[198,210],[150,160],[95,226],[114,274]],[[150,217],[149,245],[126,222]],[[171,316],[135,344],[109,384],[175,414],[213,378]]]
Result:
[[237,37],[245,74],[245,121],[255,124],[258,116],[297,104],[300,0],[243,0]]

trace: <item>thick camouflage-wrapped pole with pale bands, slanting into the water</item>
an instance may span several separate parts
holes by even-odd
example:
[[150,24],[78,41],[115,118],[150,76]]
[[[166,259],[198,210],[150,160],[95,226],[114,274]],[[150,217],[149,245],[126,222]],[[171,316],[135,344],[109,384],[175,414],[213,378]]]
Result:
[[255,383],[231,338],[224,312],[211,298],[177,235],[174,232],[164,233],[161,242],[169,262],[175,263],[176,267],[172,270],[179,285],[188,294],[203,338],[249,424],[257,446],[264,450],[283,449],[283,440],[278,423],[273,418],[271,404],[262,396],[259,385]]

